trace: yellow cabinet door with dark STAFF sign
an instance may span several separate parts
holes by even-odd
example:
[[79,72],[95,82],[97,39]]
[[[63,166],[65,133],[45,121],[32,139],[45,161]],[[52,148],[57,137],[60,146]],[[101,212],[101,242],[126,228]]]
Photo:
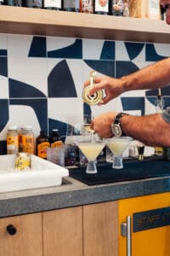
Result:
[[132,219],[132,256],[170,255],[170,193],[119,201],[119,256],[127,255],[127,237],[121,224]]

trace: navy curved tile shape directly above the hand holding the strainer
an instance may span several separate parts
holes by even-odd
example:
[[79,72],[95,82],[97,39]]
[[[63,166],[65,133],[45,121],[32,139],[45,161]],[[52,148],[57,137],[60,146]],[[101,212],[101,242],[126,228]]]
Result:
[[115,61],[91,61],[84,60],[86,64],[96,72],[103,73],[107,76],[115,76]]

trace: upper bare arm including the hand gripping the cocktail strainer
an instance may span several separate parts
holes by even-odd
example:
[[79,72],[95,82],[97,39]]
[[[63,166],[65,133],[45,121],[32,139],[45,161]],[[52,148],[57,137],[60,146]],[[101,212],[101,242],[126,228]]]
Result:
[[[96,90],[105,90],[105,98],[101,102],[101,104],[105,104],[125,91],[153,90],[167,86],[169,83],[170,58],[166,58],[121,79],[108,76],[96,77],[94,87],[89,92],[90,95],[93,95]],[[89,80],[84,83],[84,86],[88,85]]]

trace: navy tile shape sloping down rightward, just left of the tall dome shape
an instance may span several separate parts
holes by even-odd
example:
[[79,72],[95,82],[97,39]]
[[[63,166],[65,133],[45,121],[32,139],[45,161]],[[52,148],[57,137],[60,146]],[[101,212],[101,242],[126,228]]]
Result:
[[31,84],[26,84],[14,79],[8,79],[9,97],[10,98],[44,98],[46,97],[40,90]]

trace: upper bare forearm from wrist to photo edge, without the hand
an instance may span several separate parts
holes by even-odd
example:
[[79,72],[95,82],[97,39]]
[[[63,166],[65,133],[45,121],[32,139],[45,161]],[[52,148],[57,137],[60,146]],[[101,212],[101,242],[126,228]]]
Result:
[[153,90],[170,84],[170,58],[140,69],[136,73],[122,77],[124,91]]

